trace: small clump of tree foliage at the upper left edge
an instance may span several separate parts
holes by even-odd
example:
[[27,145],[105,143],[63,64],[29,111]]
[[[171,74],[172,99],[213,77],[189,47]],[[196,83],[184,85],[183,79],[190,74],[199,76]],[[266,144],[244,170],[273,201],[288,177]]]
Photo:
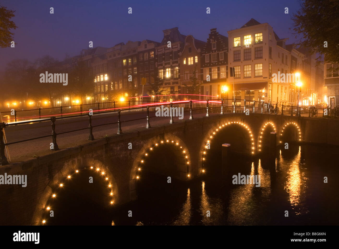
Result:
[[13,33],[11,29],[16,29],[17,26],[10,19],[15,17],[15,11],[7,9],[6,7],[0,6],[0,47],[11,46],[13,41]]

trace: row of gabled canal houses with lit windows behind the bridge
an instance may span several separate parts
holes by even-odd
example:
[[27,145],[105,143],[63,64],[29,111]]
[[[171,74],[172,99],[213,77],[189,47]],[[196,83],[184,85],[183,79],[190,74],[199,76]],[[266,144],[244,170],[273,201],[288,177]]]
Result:
[[[164,79],[160,101],[189,99],[187,94],[205,95],[201,99],[233,99],[235,94],[237,99],[247,101],[296,105],[299,87],[295,82],[273,82],[272,74],[278,71],[300,72],[302,105],[326,102],[323,64],[317,64],[307,51],[286,45],[287,39],[279,38],[268,23],[251,19],[241,28],[228,31],[227,36],[212,28],[206,41],[180,34],[174,27],[163,30],[161,42],[128,41],[111,48],[87,49],[82,60],[92,68],[94,81],[93,96],[87,97],[87,102],[152,96],[151,85],[158,77]],[[234,77],[230,77],[230,67],[235,69]],[[194,73],[199,86],[192,92]],[[146,79],[144,85],[142,78]]]

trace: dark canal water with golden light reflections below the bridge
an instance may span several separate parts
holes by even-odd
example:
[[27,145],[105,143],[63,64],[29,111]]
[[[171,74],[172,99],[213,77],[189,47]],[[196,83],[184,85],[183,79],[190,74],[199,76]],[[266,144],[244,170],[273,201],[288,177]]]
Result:
[[[167,176],[148,172],[145,165],[138,200],[118,208],[93,201],[104,199],[100,193],[106,186],[82,188],[81,177],[58,194],[54,217],[46,217],[46,225],[338,225],[337,151],[290,145],[277,150],[273,167],[265,157],[233,155],[231,175],[260,175],[260,187],[221,178],[221,151],[210,153],[204,175],[190,182],[172,178],[167,183]],[[166,160],[172,163],[171,157]]]

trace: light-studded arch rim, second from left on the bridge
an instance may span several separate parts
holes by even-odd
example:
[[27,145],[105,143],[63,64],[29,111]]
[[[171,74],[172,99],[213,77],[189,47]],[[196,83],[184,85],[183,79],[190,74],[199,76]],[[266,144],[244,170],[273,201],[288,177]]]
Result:
[[145,142],[133,161],[129,178],[131,200],[135,200],[136,181],[141,180],[140,173],[142,172],[143,165],[147,162],[147,158],[162,146],[170,146],[171,150],[174,151],[179,157],[179,160],[181,160],[181,163],[176,165],[178,170],[177,178],[183,181],[190,179],[192,172],[191,156],[186,144],[174,134],[165,133],[158,135]]

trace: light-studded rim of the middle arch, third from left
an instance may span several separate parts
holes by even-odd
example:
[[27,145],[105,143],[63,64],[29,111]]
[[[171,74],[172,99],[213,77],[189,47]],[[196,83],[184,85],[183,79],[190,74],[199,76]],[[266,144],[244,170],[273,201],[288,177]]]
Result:
[[251,155],[255,153],[255,143],[254,143],[254,136],[249,128],[249,126],[245,123],[242,123],[240,121],[231,121],[231,122],[225,122],[222,125],[217,126],[216,128],[212,128],[207,132],[207,135],[203,139],[203,143],[201,145],[200,151],[199,151],[199,173],[204,173],[205,169],[203,168],[203,163],[206,161],[206,155],[208,151],[208,145],[211,144],[213,138],[217,135],[219,131],[226,127],[230,127],[231,125],[239,125],[240,127],[243,127],[248,132],[248,138],[250,139],[250,145],[251,145]]

